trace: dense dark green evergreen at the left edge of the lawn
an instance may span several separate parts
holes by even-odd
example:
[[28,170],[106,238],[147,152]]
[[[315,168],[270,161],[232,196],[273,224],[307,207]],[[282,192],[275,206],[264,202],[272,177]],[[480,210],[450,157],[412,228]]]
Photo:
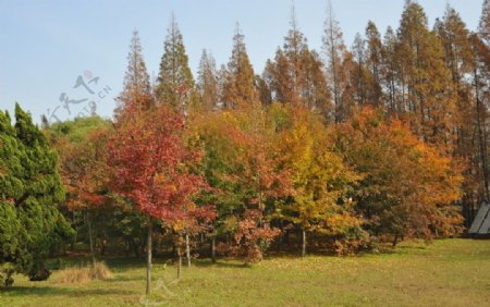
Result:
[[13,272],[32,280],[49,277],[44,260],[73,230],[58,211],[64,188],[57,171],[58,157],[32,122],[15,106],[15,125],[0,112],[0,263],[5,285]]

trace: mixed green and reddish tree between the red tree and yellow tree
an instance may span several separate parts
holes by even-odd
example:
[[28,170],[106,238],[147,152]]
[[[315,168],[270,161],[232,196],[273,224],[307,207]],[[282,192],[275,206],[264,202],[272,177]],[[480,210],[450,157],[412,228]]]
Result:
[[218,249],[246,261],[260,260],[278,235],[269,224],[270,212],[279,198],[291,193],[289,172],[275,150],[273,121],[257,103],[193,119],[192,126],[206,152],[204,173],[211,186],[207,197],[218,211],[212,242],[232,236]]

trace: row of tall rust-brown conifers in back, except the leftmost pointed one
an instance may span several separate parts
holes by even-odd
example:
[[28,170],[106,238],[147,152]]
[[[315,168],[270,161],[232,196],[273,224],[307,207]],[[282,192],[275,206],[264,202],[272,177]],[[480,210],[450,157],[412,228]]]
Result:
[[[329,8],[321,52],[309,48],[293,8],[284,44],[261,75],[254,72],[236,26],[228,65],[217,70],[212,54],[204,50],[196,84],[172,19],[157,88],[179,79],[171,93],[185,88],[187,100],[181,99],[182,106],[215,111],[255,102],[303,106],[326,124],[346,122],[366,106],[382,108],[408,123],[424,142],[461,161],[465,174],[461,201],[468,223],[489,194],[489,5],[486,0],[479,28],[471,32],[449,5],[430,28],[424,9],[406,1],[396,29],[388,27],[382,35],[369,22],[351,48]],[[174,59],[171,64],[169,59]],[[168,100],[158,93],[157,100]]]

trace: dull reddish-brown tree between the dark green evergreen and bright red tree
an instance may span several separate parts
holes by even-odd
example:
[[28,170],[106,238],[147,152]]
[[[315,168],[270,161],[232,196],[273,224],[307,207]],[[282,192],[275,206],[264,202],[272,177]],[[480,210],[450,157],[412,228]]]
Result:
[[[68,192],[66,209],[73,216],[83,212],[94,267],[94,216],[100,214],[108,202],[111,170],[106,154],[110,131],[110,123],[98,116],[56,123],[45,130],[60,157],[60,174]],[[76,225],[76,221],[72,220],[72,224]]]

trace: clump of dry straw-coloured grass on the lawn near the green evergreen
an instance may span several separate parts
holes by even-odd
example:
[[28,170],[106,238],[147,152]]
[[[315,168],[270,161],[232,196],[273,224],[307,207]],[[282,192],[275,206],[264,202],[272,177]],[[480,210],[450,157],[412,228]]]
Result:
[[112,278],[112,272],[105,262],[96,262],[95,267],[66,268],[60,273],[62,284],[82,284],[93,280],[106,280]]

